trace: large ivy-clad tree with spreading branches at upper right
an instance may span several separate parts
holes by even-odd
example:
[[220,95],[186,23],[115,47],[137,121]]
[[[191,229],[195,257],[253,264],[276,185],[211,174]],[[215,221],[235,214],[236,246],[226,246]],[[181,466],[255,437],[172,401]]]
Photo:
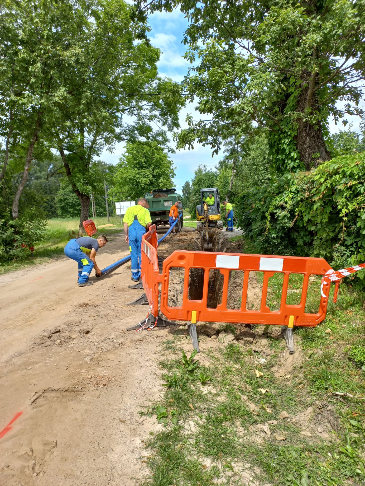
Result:
[[364,1],[161,0],[154,8],[177,3],[194,63],[185,89],[203,115],[188,119],[180,146],[198,140],[218,150],[222,139],[264,126],[280,171],[329,160],[329,116],[362,114]]

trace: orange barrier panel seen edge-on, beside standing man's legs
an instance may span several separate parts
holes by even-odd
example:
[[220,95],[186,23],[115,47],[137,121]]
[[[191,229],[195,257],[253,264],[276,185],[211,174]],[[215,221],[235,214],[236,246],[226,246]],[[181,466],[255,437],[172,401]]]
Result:
[[152,225],[142,237],[141,276],[143,289],[148,303],[151,306],[150,312],[155,317],[157,317],[159,309],[159,286],[157,277],[160,275],[157,244],[156,225]]

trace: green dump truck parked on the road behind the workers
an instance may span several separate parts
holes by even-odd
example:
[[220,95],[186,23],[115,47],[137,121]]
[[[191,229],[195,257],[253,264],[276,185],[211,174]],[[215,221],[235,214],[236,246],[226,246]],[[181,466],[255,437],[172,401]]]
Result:
[[[156,226],[168,225],[168,214],[172,205],[176,201],[180,201],[179,194],[176,194],[176,189],[154,189],[152,192],[146,192],[145,197],[148,201],[148,210],[151,214],[152,223]],[[136,204],[138,199],[136,199]],[[178,208],[179,214],[183,214],[183,207]],[[176,224],[176,232],[181,231],[183,227],[183,218],[179,218]]]

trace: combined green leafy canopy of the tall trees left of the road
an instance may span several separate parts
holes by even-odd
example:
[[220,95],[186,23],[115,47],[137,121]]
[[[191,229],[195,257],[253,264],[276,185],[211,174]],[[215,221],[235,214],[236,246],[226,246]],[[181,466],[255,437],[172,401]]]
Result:
[[158,76],[160,51],[146,22],[124,0],[1,6],[0,135],[9,135],[12,156],[22,148],[22,171],[31,141],[32,150],[59,151],[81,201],[81,228],[90,194],[104,192],[94,158],[122,140],[165,145],[165,129],[179,126],[181,87]]

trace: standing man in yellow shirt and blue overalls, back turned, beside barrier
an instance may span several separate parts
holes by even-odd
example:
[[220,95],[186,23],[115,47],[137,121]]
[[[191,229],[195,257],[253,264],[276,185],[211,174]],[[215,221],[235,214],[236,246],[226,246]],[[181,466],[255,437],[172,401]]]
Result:
[[133,282],[138,282],[141,278],[142,236],[152,224],[148,207],[147,199],[142,197],[136,206],[127,208],[123,218],[126,242],[129,243]]

